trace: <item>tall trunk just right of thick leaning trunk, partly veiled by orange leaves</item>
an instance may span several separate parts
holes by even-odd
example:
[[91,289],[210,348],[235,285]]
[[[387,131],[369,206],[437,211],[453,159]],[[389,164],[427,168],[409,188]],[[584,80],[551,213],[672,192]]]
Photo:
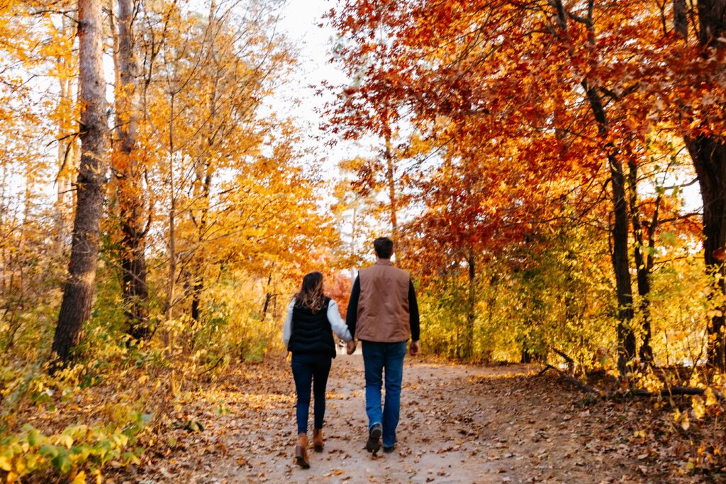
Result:
[[[113,18],[113,15],[112,15]],[[142,340],[149,331],[149,290],[146,282],[146,231],[142,196],[142,167],[137,158],[139,66],[134,52],[134,2],[118,0],[118,81],[116,90],[116,123],[118,146],[113,167],[117,177],[118,208],[121,217],[121,271],[123,307],[127,332]]]

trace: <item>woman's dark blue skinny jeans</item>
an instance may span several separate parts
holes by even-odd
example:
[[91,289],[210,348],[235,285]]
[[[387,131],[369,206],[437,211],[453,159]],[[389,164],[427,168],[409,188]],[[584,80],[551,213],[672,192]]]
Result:
[[330,374],[333,358],[324,355],[293,353],[291,366],[295,379],[295,391],[298,394],[296,416],[298,434],[308,431],[308,414],[310,411],[310,386],[313,387],[315,403],[313,406],[315,429],[322,429],[325,419],[325,387]]

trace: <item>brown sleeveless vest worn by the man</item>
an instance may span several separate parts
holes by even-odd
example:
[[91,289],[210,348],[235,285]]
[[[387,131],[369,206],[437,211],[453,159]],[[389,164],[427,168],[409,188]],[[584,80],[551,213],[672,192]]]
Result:
[[356,337],[364,341],[398,343],[411,335],[409,321],[408,272],[379,259],[375,266],[358,273],[361,295],[358,300]]

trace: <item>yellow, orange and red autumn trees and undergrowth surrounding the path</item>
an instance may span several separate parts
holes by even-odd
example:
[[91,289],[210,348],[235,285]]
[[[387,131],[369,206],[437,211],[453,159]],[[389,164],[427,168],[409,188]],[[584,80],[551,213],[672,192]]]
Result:
[[725,8],[339,1],[317,114],[353,148],[320,160],[271,101],[280,2],[0,1],[2,477],[139,462],[195,425],[184,391],[284,349],[303,274],[344,314],[380,234],[428,356],[696,388],[675,421],[715,418]]

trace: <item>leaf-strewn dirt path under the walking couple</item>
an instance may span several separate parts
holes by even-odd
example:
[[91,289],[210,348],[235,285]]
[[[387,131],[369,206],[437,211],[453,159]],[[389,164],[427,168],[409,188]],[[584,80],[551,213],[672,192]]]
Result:
[[[407,358],[396,452],[364,449],[362,356],[339,356],[328,384],[325,452],[292,464],[289,364],[254,366],[183,409],[203,432],[176,431],[174,451],[144,458],[117,483],[661,483],[669,470],[627,440],[622,409],[578,405],[582,395],[533,367],[452,366]],[[200,393],[201,395],[201,393]],[[609,413],[608,413],[609,412]],[[635,419],[637,416],[629,415]],[[312,421],[312,419],[311,419]],[[634,446],[636,448],[634,448]]]

